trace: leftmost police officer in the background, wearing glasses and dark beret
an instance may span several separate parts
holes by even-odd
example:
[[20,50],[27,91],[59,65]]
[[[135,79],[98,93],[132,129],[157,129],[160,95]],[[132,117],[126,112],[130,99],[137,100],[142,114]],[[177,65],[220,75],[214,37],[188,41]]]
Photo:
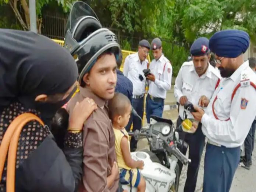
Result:
[[[146,88],[146,78],[143,70],[147,69],[149,61],[146,59],[149,54],[150,44],[147,40],[143,39],[139,42],[138,52],[131,54],[125,58],[124,62],[124,76],[128,77],[133,84],[132,92],[132,107],[142,118],[144,113],[144,95]],[[126,127],[127,131],[130,131],[131,124],[133,122],[133,131],[141,130],[142,122],[135,115],[131,115],[129,123]],[[135,151],[137,148],[137,141],[134,137],[131,139],[131,151]]]

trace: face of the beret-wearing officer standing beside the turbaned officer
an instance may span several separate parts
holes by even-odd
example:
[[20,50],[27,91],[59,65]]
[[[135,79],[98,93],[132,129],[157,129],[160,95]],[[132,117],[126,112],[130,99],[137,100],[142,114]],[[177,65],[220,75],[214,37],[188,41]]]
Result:
[[192,56],[192,60],[194,63],[194,67],[196,70],[196,73],[201,76],[205,74],[207,68],[208,68],[208,63],[210,61],[211,55],[204,55],[204,56]]

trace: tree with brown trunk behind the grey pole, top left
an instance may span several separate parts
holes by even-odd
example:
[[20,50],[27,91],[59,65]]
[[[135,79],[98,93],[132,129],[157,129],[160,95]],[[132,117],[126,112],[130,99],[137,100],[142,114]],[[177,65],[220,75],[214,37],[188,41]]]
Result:
[[[36,22],[38,33],[41,33],[42,27],[42,8],[53,0],[36,0]],[[67,12],[75,0],[56,0],[63,10]],[[29,18],[29,0],[0,0],[0,5],[8,4],[13,10],[23,30],[30,29]]]

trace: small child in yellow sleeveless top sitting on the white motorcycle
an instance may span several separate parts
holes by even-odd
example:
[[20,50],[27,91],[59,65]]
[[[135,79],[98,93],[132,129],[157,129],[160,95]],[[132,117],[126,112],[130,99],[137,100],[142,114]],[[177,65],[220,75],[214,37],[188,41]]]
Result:
[[122,93],[115,93],[109,102],[110,119],[115,134],[115,152],[120,170],[120,182],[138,188],[138,192],[145,192],[146,182],[139,169],[143,169],[143,161],[131,158],[129,135],[125,130],[131,114],[131,102]]

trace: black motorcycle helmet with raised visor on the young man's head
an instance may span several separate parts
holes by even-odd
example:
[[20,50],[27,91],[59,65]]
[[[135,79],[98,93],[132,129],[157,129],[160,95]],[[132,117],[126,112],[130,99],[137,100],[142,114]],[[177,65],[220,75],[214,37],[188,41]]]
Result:
[[102,25],[90,6],[82,1],[73,4],[66,27],[64,47],[77,61],[79,78],[89,72],[97,58],[104,52],[114,53],[118,60],[121,52],[117,37]]

